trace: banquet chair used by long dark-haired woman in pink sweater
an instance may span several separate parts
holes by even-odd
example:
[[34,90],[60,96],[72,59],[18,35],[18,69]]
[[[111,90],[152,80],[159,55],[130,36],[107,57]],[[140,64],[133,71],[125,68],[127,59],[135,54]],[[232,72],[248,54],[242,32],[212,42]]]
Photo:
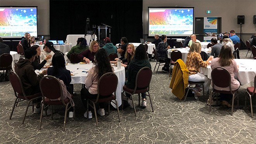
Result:
[[[88,116],[88,111],[89,111],[89,106],[91,106],[94,110],[95,118],[96,118],[96,126],[98,127],[98,118],[97,118],[97,113],[96,113],[96,103],[103,103],[103,102],[108,102],[108,113],[110,111],[110,101],[114,104],[116,104],[116,108],[118,110],[118,118],[120,122],[120,113],[119,113],[119,108],[118,108],[118,101],[116,99],[116,88],[118,86],[118,77],[116,74],[112,72],[108,72],[104,75],[102,75],[99,79],[98,82],[98,90],[97,90],[97,98],[96,99],[88,99],[87,101],[87,106],[86,106],[86,111],[87,111],[87,118]],[[113,94],[114,93],[114,94]],[[107,98],[100,98],[100,96],[109,96]],[[112,100],[115,100],[113,102]]]

